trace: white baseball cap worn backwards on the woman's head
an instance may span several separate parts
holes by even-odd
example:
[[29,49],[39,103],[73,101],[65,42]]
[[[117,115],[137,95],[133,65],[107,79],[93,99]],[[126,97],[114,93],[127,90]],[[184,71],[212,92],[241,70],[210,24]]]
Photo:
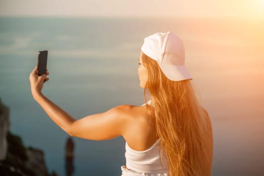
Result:
[[171,32],[157,32],[144,39],[144,54],[157,61],[165,76],[174,81],[193,79],[185,67],[183,41]]

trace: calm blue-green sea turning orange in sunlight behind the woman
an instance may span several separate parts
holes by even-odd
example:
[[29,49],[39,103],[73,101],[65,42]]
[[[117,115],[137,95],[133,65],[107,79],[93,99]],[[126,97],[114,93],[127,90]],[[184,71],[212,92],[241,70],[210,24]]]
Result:
[[[171,31],[214,135],[212,175],[264,175],[264,20],[222,18],[0,18],[0,97],[11,131],[66,175],[68,135],[34,101],[29,74],[48,50],[43,94],[75,119],[142,105],[137,74],[144,37]],[[73,137],[73,175],[121,175],[125,140]]]

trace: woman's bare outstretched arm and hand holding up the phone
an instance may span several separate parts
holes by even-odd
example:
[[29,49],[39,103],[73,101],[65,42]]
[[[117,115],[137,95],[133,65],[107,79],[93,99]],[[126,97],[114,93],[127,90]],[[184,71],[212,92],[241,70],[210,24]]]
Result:
[[93,114],[75,120],[41,93],[44,79],[46,81],[49,79],[46,77],[49,73],[38,76],[36,71],[37,66],[29,77],[33,98],[48,116],[70,136],[90,140],[106,140],[125,134],[130,124],[129,117],[131,117],[132,106],[120,105],[105,113]]

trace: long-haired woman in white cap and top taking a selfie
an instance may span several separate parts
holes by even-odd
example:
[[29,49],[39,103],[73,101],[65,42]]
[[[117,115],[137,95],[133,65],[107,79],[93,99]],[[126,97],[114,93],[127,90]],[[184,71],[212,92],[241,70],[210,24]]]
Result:
[[[122,175],[211,175],[211,122],[192,87],[182,40],[169,31],[150,35],[138,60],[142,106],[120,105],[75,120],[41,93],[49,73],[37,76],[37,67],[29,77],[32,96],[70,136],[107,140],[122,135]],[[148,102],[145,90],[150,93]]]

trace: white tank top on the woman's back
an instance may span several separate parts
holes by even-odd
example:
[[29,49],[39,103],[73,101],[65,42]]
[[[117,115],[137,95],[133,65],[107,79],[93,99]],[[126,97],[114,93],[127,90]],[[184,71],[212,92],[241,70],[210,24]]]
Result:
[[[147,104],[150,104],[150,101],[148,101]],[[126,167],[137,172],[152,174],[168,173],[166,160],[164,168],[161,165],[159,157],[159,141],[160,138],[150,148],[144,151],[133,150],[126,142]],[[163,158],[165,159],[165,157]]]

